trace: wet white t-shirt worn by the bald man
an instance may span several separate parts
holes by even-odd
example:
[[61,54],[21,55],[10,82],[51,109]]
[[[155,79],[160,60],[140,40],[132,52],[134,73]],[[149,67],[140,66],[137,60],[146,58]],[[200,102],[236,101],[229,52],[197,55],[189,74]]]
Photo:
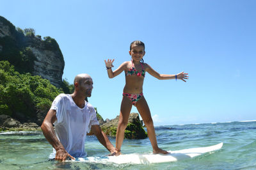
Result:
[[[51,109],[56,110],[57,120],[54,122],[55,132],[65,150],[73,157],[86,157],[84,142],[86,132],[92,125],[99,125],[95,109],[84,101],[84,108],[78,107],[72,97],[60,94],[52,102]],[[55,158],[56,150],[49,158]]]

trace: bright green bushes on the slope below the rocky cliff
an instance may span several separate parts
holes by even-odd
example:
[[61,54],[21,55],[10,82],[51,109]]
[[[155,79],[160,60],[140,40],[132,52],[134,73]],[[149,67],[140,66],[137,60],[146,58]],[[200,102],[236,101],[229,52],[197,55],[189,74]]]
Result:
[[63,91],[47,79],[20,74],[8,61],[0,61],[0,114],[8,114],[21,122],[36,121],[36,114],[45,114],[60,93]]

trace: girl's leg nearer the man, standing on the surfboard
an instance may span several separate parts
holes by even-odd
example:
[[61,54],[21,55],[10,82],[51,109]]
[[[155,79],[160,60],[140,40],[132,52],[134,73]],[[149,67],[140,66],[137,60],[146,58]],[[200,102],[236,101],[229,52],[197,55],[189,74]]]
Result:
[[116,155],[120,155],[121,146],[124,140],[124,130],[127,127],[129,114],[132,109],[132,102],[129,98],[123,97],[120,109],[118,127],[116,131]]

